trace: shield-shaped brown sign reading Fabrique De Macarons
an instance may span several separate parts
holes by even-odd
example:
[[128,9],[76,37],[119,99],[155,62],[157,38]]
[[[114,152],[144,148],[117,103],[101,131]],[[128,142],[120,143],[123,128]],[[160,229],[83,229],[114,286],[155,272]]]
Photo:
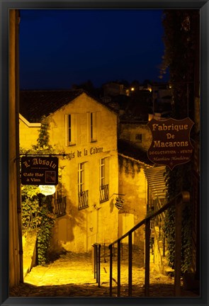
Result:
[[171,170],[189,162],[193,152],[190,142],[193,124],[190,118],[150,120],[147,125],[152,132],[152,143],[147,151],[148,158],[154,164],[169,166]]

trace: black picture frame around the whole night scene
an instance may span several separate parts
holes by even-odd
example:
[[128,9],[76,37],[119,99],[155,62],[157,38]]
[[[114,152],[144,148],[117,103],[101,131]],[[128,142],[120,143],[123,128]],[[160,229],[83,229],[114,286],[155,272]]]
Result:
[[[9,297],[9,9],[16,8],[199,8],[200,9],[200,297]],[[208,1],[8,1],[0,0],[0,302],[1,305],[208,305]]]

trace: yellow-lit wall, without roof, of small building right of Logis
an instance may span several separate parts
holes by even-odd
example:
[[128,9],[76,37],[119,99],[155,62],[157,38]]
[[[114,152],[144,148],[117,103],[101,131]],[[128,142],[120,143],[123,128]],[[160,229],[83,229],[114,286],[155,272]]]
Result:
[[[147,180],[140,161],[119,155],[119,164],[119,193],[125,194],[118,216],[119,236],[122,236],[146,217]],[[140,227],[133,236],[133,243],[141,244],[144,239],[145,231]],[[128,242],[128,238],[124,242]]]

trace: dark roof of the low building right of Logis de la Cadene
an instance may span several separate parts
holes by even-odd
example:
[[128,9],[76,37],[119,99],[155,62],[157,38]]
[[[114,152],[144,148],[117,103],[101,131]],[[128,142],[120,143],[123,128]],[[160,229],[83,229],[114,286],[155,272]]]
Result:
[[137,147],[134,142],[118,139],[118,153],[153,166],[153,163],[147,157],[147,152]]

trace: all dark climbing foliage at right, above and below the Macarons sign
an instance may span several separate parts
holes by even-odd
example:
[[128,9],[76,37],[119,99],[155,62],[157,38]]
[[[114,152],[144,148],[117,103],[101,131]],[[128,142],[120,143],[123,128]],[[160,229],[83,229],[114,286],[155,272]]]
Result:
[[[199,10],[164,10],[164,57],[160,79],[169,69],[172,86],[172,117],[182,119],[189,116],[194,120],[194,79],[198,76],[197,55],[199,48]],[[197,77],[198,80],[198,77]],[[165,174],[167,200],[171,200],[181,191],[192,191],[191,162],[176,166]],[[175,209],[166,212],[164,233],[169,250],[169,265],[174,268],[175,256]],[[183,209],[181,271],[191,265],[192,209],[188,203]]]

